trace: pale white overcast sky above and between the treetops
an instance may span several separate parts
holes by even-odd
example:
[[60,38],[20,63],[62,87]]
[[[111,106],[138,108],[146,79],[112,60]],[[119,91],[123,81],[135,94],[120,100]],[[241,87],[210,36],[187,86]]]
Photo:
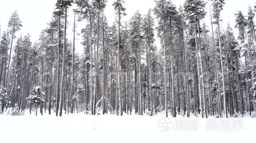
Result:
[[[51,21],[52,13],[55,8],[55,3],[57,0],[1,0],[0,4],[0,23],[1,23],[1,34],[7,30],[8,21],[11,17],[11,14],[17,10],[19,14],[19,18],[22,21],[23,27],[21,30],[16,33],[16,36],[26,35],[30,33],[31,40],[34,43],[38,40],[40,32],[47,28],[47,23]],[[107,6],[105,8],[105,15],[107,17],[107,21],[109,25],[113,24],[113,21],[116,17],[113,10],[113,1],[108,0]],[[222,25],[224,29],[226,29],[226,25],[230,22],[231,27],[234,32],[237,33],[237,30],[234,28],[235,23],[235,15],[237,11],[242,11],[244,15],[247,15],[248,7],[254,8],[255,0],[225,0],[226,4],[223,7],[223,11],[221,12],[221,17],[223,19]],[[173,4],[179,7],[184,3],[184,0],[173,0]],[[145,15],[147,11],[151,8],[154,8],[154,0],[125,0],[124,7],[126,8],[127,16],[122,18],[122,21],[128,21],[132,15],[139,10],[142,15]],[[207,16],[203,21],[205,21],[208,25],[210,24],[210,16],[209,16],[209,5],[206,7]],[[68,21],[69,25],[68,29],[68,39],[72,40],[72,25],[73,25],[73,12],[72,8],[69,9],[68,13]],[[85,21],[79,22],[77,21],[77,29],[76,32],[80,33],[80,30],[86,25]],[[209,27],[210,28],[210,27]],[[159,41],[159,40],[157,40]],[[81,36],[77,36],[76,38],[76,51],[81,54],[83,48],[80,44]],[[158,43],[158,42],[157,42]],[[15,44],[14,44],[15,45]]]

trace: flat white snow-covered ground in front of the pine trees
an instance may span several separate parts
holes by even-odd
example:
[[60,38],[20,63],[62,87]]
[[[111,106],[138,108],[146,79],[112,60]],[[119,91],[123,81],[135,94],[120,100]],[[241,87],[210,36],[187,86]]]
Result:
[[0,143],[256,143],[255,133],[256,118],[249,117],[0,115]]

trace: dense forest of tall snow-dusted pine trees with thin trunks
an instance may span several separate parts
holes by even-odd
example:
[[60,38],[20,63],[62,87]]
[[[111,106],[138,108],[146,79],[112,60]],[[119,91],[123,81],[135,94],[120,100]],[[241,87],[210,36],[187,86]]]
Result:
[[146,15],[138,10],[128,21],[124,3],[114,1],[109,25],[106,0],[57,0],[34,43],[30,34],[16,35],[23,20],[14,11],[0,33],[0,113],[256,117],[256,7],[237,10],[235,27],[222,27],[224,0],[155,0]]

